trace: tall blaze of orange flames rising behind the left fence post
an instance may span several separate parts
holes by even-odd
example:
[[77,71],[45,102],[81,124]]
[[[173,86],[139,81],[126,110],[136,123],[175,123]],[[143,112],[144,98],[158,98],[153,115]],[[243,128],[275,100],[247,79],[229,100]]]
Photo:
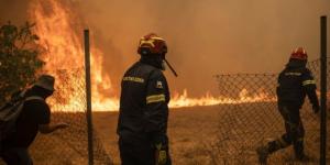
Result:
[[[56,0],[34,0],[31,2],[30,12],[36,22],[35,31],[41,36],[40,44],[46,50],[42,54],[46,62],[42,72],[56,77],[56,88],[61,89],[57,95],[65,97],[62,102],[51,100],[52,105],[61,105],[58,107],[62,109],[72,111],[81,109],[85,101],[79,100],[85,94],[85,86],[81,84],[85,80],[82,23],[70,9]],[[91,45],[92,108],[114,110],[118,109],[118,99],[106,97],[101,92],[111,92],[113,89],[109,75],[102,73],[102,52]],[[72,76],[73,74],[77,75]],[[65,85],[72,87],[63,88]]]

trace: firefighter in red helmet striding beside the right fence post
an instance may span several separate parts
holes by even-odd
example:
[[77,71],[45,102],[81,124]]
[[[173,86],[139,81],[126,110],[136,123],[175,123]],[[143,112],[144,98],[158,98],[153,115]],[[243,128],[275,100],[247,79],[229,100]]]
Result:
[[315,113],[318,113],[320,108],[316,94],[316,81],[311,72],[306,68],[306,64],[307,53],[302,47],[298,47],[293,51],[288,64],[278,76],[277,105],[285,122],[286,133],[279,139],[268,142],[267,145],[256,148],[261,164],[266,164],[270,154],[289,145],[294,145],[295,156],[298,161],[310,161],[310,157],[304,153],[305,130],[299,110],[306,95]]

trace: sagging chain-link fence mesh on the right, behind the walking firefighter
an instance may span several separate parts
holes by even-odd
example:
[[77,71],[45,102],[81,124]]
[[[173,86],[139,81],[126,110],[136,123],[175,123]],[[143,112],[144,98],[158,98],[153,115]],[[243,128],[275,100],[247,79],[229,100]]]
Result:
[[[320,61],[310,62],[308,67],[319,85]],[[328,75],[330,75],[329,67]],[[277,74],[238,74],[216,77],[220,95],[234,101],[226,105],[224,112],[221,112],[219,119],[217,141],[209,145],[212,162],[221,165],[257,164],[255,148],[279,138],[285,132],[276,102]],[[312,157],[310,163],[316,164],[320,151],[320,118],[312,112],[307,100],[300,112],[306,130],[306,153]],[[329,140],[328,151],[330,151]],[[329,156],[328,154],[327,157]],[[268,162],[271,164],[297,163],[292,148],[272,154]]]

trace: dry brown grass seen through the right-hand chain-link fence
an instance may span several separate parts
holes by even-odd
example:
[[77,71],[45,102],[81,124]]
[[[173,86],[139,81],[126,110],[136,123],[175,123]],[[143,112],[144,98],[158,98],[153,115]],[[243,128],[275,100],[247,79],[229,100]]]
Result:
[[[220,116],[219,135],[211,143],[212,152],[209,152],[213,164],[256,164],[255,148],[284,133],[283,119],[275,102],[235,105],[226,111]],[[302,108],[301,118],[306,130],[306,153],[314,160],[309,164],[318,164],[319,119],[308,105]],[[268,163],[299,164],[294,160],[293,148],[276,152],[270,156]]]

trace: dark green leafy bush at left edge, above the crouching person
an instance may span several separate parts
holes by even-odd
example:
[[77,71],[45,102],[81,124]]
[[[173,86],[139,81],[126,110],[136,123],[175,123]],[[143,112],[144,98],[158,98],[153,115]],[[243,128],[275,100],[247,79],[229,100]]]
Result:
[[41,46],[33,26],[29,22],[20,28],[10,22],[0,25],[0,106],[11,94],[32,84],[45,64],[38,58]]

